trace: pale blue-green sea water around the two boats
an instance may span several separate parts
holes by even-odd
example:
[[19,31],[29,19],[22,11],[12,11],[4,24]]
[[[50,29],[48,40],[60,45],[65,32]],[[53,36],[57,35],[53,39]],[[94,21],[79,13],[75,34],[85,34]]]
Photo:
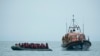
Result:
[[53,51],[13,51],[15,43],[0,41],[0,56],[100,56],[100,42],[92,42],[89,51],[64,51],[61,42],[48,42]]

